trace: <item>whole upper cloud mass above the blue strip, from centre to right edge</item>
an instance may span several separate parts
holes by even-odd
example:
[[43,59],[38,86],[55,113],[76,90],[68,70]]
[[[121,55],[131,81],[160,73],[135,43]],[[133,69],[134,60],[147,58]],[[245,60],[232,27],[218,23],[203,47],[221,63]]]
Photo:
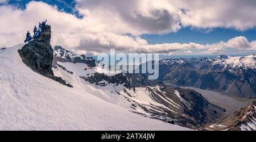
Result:
[[122,32],[133,34],[175,32],[180,24],[237,30],[256,26],[253,0],[77,0],[77,7],[91,19],[114,25],[111,28],[121,26]]

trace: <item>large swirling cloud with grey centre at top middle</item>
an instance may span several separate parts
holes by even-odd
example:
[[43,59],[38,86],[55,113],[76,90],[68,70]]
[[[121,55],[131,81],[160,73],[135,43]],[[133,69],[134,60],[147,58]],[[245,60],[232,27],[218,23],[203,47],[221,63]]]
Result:
[[[118,34],[162,34],[180,28],[176,10],[162,7],[162,1],[77,1],[77,9],[102,30]],[[112,25],[111,27],[109,27]]]

